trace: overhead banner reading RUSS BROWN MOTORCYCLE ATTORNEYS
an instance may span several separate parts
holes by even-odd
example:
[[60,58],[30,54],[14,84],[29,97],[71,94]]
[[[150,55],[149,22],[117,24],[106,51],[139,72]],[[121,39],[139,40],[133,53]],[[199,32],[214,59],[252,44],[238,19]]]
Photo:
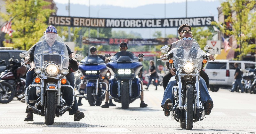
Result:
[[120,19],[86,18],[71,16],[50,16],[48,24],[53,26],[90,27],[90,28],[179,28],[182,24],[191,27],[211,26],[213,16],[161,19]]

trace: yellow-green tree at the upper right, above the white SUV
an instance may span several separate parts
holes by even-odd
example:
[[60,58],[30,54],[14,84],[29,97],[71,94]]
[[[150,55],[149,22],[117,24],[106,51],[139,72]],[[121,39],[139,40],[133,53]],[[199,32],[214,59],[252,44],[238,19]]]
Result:
[[225,22],[230,22],[232,30],[226,28],[225,23],[213,23],[216,26],[220,26],[222,33],[226,35],[234,35],[239,45],[236,51],[239,51],[239,55],[236,59],[243,59],[243,57],[249,52],[254,52],[255,44],[252,44],[249,40],[255,38],[255,15],[256,12],[251,12],[255,5],[255,1],[252,0],[227,0],[221,3],[223,7],[223,14],[227,17]]

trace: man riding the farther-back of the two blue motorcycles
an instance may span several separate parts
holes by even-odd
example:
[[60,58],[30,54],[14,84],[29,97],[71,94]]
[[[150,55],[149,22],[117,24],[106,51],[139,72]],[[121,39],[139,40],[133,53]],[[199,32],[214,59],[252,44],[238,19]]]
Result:
[[[90,47],[90,52],[91,52],[92,55],[98,55],[101,59],[103,59],[103,60],[105,61],[106,58],[105,58],[103,55],[99,55],[99,54],[97,53],[98,50],[97,50],[97,48],[96,48],[95,46],[91,46],[91,47]],[[106,82],[106,83],[108,84],[108,80],[107,80],[107,79],[104,79],[103,82]],[[83,87],[84,89],[86,88],[85,85],[82,85],[82,84],[81,84],[81,87]],[[84,89],[81,89],[81,87],[80,87],[80,90],[83,90],[83,91],[84,91]],[[78,102],[77,102],[78,106],[82,106],[82,105],[83,105],[82,102],[81,102],[81,100],[82,100],[82,98],[79,97],[79,98],[78,98]],[[109,105],[109,106],[116,106],[116,105],[112,102],[112,99],[109,99],[108,105]]]

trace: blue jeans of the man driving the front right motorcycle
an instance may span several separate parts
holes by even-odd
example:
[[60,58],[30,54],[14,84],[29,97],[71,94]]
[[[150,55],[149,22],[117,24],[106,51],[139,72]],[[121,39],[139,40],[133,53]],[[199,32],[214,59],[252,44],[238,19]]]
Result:
[[[175,85],[176,85],[175,76],[172,76],[172,78],[170,79],[170,81],[167,84],[166,89],[164,91],[164,98],[162,100],[161,105],[164,105],[164,102],[166,101],[166,99],[171,99],[173,101],[172,87]],[[203,104],[208,99],[212,100],[212,98],[209,95],[206,83],[202,77],[200,77],[200,79],[199,79],[199,91],[200,91],[200,98],[201,98],[201,101]]]

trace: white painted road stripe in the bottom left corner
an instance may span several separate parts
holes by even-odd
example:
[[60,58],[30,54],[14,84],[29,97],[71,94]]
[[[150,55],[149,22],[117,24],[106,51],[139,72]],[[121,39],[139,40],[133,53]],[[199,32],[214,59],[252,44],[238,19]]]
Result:
[[42,133],[43,129],[0,129],[0,134]]

